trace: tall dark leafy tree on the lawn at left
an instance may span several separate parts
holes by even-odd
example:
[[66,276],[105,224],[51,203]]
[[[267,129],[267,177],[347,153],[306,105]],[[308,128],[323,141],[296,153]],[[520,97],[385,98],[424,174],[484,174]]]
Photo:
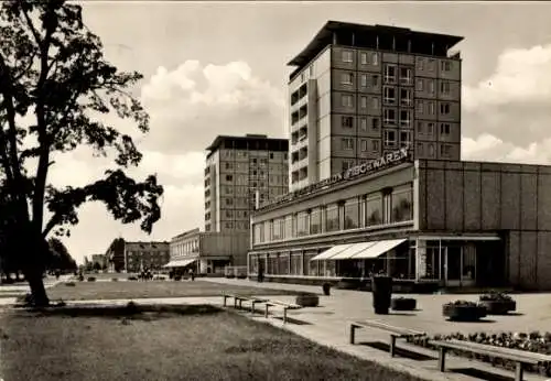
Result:
[[[101,120],[101,115],[116,112],[132,119],[141,132],[149,130],[149,117],[131,94],[141,78],[106,61],[79,6],[62,0],[2,3],[0,181],[11,211],[4,239],[17,240],[18,262],[39,306],[48,304],[42,281],[47,236],[68,235],[83,204],[102,202],[115,219],[141,221],[145,232],[161,216],[163,188],[156,176],[143,182],[127,176],[126,170],[137,166],[142,155],[129,135]],[[22,117],[32,121],[23,126]],[[53,154],[83,144],[104,156],[115,153],[115,167],[83,187],[54,187],[47,182]],[[30,160],[36,163],[33,171]],[[45,208],[52,214],[47,221]]]

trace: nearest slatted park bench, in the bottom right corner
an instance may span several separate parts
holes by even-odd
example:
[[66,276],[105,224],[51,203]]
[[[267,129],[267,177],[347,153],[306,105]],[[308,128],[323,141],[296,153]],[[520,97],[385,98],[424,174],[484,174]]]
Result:
[[439,348],[439,369],[441,372],[445,371],[445,355],[450,349],[512,361],[516,363],[515,381],[522,381],[525,366],[538,366],[540,362],[551,361],[551,356],[549,355],[495,347],[487,344],[464,340],[431,340],[430,344]]

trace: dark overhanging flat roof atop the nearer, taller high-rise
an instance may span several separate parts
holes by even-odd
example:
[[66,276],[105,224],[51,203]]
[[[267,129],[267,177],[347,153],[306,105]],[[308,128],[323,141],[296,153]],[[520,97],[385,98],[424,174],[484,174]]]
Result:
[[407,36],[412,42],[426,43],[433,42],[437,45],[452,46],[460,43],[464,37],[451,34],[430,33],[412,31],[409,28],[398,28],[388,25],[366,25],[350,22],[327,21],[325,25],[317,32],[307,46],[291,59],[289,66],[304,66],[311,62],[322,50],[332,44],[334,32],[354,32],[365,36]]

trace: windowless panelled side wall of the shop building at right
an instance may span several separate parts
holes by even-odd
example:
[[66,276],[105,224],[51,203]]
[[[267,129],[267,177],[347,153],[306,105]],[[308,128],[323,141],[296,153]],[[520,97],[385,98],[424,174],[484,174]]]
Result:
[[551,168],[474,162],[419,163],[425,231],[504,231],[509,282],[551,289]]

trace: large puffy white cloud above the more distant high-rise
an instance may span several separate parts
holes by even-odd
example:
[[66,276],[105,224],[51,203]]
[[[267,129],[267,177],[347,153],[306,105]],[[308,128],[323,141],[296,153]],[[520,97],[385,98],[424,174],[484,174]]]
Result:
[[151,116],[143,144],[152,151],[204,151],[218,134],[284,134],[284,92],[240,61],[159,67],[141,100]]

